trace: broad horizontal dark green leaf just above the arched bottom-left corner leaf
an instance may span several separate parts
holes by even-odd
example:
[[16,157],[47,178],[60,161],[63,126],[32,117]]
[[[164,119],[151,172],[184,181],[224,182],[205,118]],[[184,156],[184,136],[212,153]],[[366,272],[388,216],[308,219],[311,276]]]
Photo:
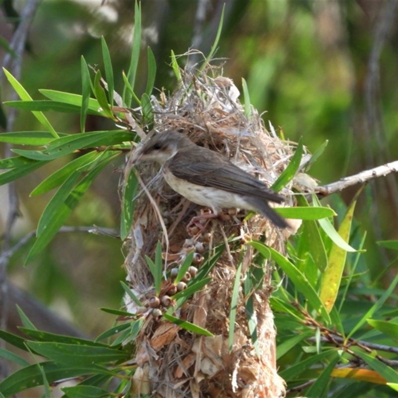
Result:
[[127,352],[107,347],[37,341],[28,341],[26,344],[43,357],[76,367],[123,361],[129,356]]

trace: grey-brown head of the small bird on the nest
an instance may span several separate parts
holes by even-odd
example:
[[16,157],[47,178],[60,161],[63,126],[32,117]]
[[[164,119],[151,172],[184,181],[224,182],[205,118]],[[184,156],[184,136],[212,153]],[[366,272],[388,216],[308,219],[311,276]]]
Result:
[[132,164],[148,161],[158,162],[164,165],[176,155],[180,148],[195,145],[185,134],[177,131],[165,131],[146,139],[134,152]]

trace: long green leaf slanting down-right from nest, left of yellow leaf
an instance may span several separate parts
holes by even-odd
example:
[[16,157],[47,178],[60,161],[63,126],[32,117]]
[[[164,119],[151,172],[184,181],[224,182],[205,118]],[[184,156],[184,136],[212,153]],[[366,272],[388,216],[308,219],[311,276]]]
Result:
[[289,279],[295,284],[298,291],[308,300],[311,306],[318,311],[326,323],[330,323],[330,316],[325,306],[305,276],[281,253],[269,247],[274,261],[282,268]]

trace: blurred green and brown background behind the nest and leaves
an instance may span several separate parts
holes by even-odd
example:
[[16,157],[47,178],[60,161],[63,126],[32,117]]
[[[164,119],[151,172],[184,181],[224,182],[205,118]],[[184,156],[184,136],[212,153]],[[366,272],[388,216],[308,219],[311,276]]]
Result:
[[[3,1],[20,12],[26,1]],[[155,53],[158,75],[155,87],[172,92],[176,80],[170,67],[170,51],[184,54],[193,41],[207,54],[214,40],[221,1],[142,1],[143,39],[136,78],[138,94],[145,90],[146,47]],[[252,104],[281,128],[287,139],[302,136],[310,152],[329,140],[324,154],[310,174],[321,184],[394,161],[398,158],[398,30],[396,24],[382,42],[380,80],[367,97],[371,69],[369,60],[375,37],[383,25],[379,17],[385,1],[226,1],[224,28],[216,57],[223,75],[241,90],[245,78]],[[204,9],[202,20],[198,9]],[[80,57],[102,67],[100,36],[108,44],[113,62],[116,91],[121,71],[130,59],[134,1],[40,2],[28,33],[28,48],[22,62],[21,83],[34,99],[43,99],[38,89],[81,92]],[[4,8],[0,11],[0,36],[10,40],[14,29]],[[198,34],[196,34],[196,32]],[[0,59],[4,51],[0,49]],[[179,59],[184,66],[186,57]],[[192,62],[199,62],[200,57]],[[379,58],[377,58],[379,62]],[[119,85],[117,84],[119,83]],[[10,98],[10,88],[1,82],[1,100]],[[370,102],[369,102],[370,101]],[[377,109],[376,121],[369,104]],[[4,105],[7,112],[8,108]],[[79,132],[79,115],[49,112],[60,132]],[[87,131],[112,128],[103,119],[88,118]],[[20,111],[14,131],[42,130],[28,111]],[[3,157],[3,147],[0,147]],[[60,160],[65,162],[66,160]],[[117,228],[120,217],[117,172],[122,164],[106,168],[68,224],[93,224]],[[16,183],[21,218],[13,228],[13,243],[30,232],[53,195],[29,198],[29,193],[51,173],[43,168]],[[392,260],[375,240],[397,239],[397,179],[379,179],[362,194],[356,225],[368,231],[367,255],[359,271],[377,275]],[[344,210],[359,186],[324,199]],[[0,233],[7,215],[7,192],[0,189]],[[31,244],[31,243],[30,243]],[[110,327],[114,316],[98,307],[119,307],[123,294],[119,280],[125,278],[120,241],[87,233],[62,233],[27,268],[22,268],[30,244],[15,254],[9,264],[13,284],[30,292],[90,336]],[[390,258],[391,257],[391,258]],[[392,272],[392,271],[390,271]],[[381,284],[388,284],[389,273]],[[34,323],[34,319],[33,319]]]

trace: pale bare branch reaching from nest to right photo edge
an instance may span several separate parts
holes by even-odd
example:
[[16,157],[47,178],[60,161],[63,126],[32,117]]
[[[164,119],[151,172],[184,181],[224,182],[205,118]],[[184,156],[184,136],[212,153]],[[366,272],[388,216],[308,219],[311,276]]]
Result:
[[397,171],[398,160],[396,160],[395,162],[387,163],[383,166],[375,167],[374,169],[362,171],[350,177],[344,177],[341,180],[331,184],[315,187],[314,191],[316,194],[318,194],[318,196],[325,197],[330,194],[334,194],[335,192],[340,192],[352,185],[363,184],[375,178],[384,177],[391,173],[396,173]]

